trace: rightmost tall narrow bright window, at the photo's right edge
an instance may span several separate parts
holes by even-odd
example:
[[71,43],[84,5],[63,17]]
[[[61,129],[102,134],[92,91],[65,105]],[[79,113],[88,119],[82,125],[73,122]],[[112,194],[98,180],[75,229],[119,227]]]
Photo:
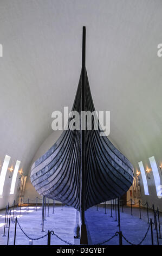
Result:
[[161,197],[162,194],[161,194],[161,186],[160,186],[160,176],[159,176],[159,171],[158,171],[157,163],[155,161],[154,156],[149,157],[149,161],[150,161],[152,172],[153,172],[153,178],[154,178],[155,187],[157,190],[157,196]]

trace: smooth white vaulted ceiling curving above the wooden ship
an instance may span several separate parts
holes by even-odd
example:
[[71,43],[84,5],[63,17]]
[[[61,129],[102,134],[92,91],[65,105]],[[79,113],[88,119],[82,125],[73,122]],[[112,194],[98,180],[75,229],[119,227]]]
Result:
[[[72,107],[86,66],[96,110],[111,111],[110,138],[138,167],[162,148],[162,2],[3,0],[0,3],[0,161],[28,170],[50,135],[51,113]],[[162,157],[161,157],[162,160]]]

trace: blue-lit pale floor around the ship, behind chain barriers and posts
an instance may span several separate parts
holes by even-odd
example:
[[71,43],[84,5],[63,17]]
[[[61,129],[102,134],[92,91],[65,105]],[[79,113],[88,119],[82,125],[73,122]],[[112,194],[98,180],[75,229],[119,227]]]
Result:
[[[121,222],[121,231],[126,239],[131,243],[139,243],[142,238],[145,236],[148,229],[147,223],[147,210],[141,209],[141,220],[139,218],[139,208],[133,207],[133,215],[131,215],[130,206],[124,207],[124,212],[120,208],[120,222]],[[13,214],[13,209],[11,209],[11,216]],[[117,220],[118,220],[118,211]],[[29,237],[39,238],[47,234],[48,230],[54,230],[55,235],[51,235],[51,245],[66,245],[66,242],[79,245],[79,239],[74,239],[74,226],[76,221],[76,210],[69,206],[56,205],[53,213],[53,206],[49,206],[49,216],[48,208],[46,209],[46,221],[44,221],[44,232],[42,232],[41,218],[42,210],[41,205],[35,209],[35,205],[30,205],[29,208],[27,205],[23,205],[20,208],[15,209],[15,216],[17,216],[17,229],[16,229],[16,245],[29,245]],[[115,221],[115,207],[112,210],[111,217],[111,208],[110,205],[107,205],[107,210],[103,208],[103,204],[88,209],[86,211],[86,223],[87,223],[87,233],[89,245],[96,245],[102,243],[103,241],[111,238],[116,231],[119,231],[118,221]],[[153,218],[152,210],[149,211],[149,218]],[[0,211],[0,245],[7,245],[8,240],[8,230],[5,228],[4,234],[4,220],[5,220],[5,210]],[[9,226],[9,220],[8,220]],[[20,228],[21,226],[21,228]],[[162,237],[162,214],[160,213],[160,229]],[[26,236],[24,233],[28,236]],[[15,232],[15,223],[10,221],[10,232],[9,232],[9,245],[14,243],[14,232]],[[159,227],[158,227],[159,235]],[[59,237],[58,237],[59,236]],[[157,234],[153,226],[153,241],[154,245],[157,244]],[[123,245],[129,245],[129,243],[122,239]],[[162,245],[162,239],[159,239],[159,244]],[[33,245],[47,245],[47,236],[33,240]],[[114,236],[108,242],[103,243],[103,245],[119,245],[119,236]],[[141,245],[151,245],[151,228],[148,230],[145,240]]]

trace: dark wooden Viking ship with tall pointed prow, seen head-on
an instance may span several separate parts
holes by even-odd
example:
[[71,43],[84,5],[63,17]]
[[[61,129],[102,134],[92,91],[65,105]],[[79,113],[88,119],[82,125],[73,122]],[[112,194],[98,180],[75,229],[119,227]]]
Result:
[[[72,111],[95,111],[86,70],[86,27],[82,35],[82,69]],[[80,212],[80,244],[88,244],[85,211],[102,202],[121,197],[133,181],[133,166],[98,129],[88,129],[80,114],[79,129],[64,130],[56,143],[34,162],[31,183],[47,198],[59,200]],[[69,118],[70,123],[72,118]],[[75,124],[76,125],[76,124]],[[95,125],[96,126],[96,125]],[[76,126],[75,126],[76,127]]]

